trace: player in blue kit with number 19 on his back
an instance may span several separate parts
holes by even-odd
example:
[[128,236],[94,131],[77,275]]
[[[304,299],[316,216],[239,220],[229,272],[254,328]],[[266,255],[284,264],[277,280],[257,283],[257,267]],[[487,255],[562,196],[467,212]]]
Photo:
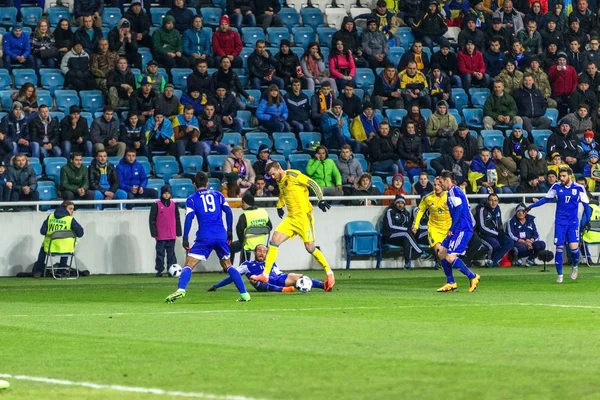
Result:
[[[185,289],[192,278],[192,271],[198,262],[206,261],[213,250],[220,259],[221,267],[229,274],[240,292],[238,301],[250,301],[250,295],[244,286],[242,276],[231,265],[229,260],[229,244],[232,239],[233,212],[227,204],[225,197],[215,190],[208,189],[208,175],[198,172],[194,177],[196,192],[188,197],[185,202],[186,216],[183,229],[183,247],[188,251],[185,267],[179,276],[178,289],[167,296],[165,301],[173,303],[175,300],[185,297]],[[223,227],[223,213],[227,221],[227,230]],[[190,248],[188,236],[194,218],[198,220],[198,231],[196,240]]]

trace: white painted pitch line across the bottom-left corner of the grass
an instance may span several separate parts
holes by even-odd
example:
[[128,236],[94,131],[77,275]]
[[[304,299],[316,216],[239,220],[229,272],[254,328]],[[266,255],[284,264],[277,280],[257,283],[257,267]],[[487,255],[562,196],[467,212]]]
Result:
[[122,385],[106,385],[106,384],[102,384],[102,383],[92,383],[92,382],[74,382],[74,381],[67,381],[64,379],[43,378],[43,377],[27,376],[27,375],[11,375],[11,374],[0,373],[0,378],[16,379],[16,380],[20,380],[20,381],[29,381],[29,382],[48,383],[51,385],[78,386],[78,387],[84,387],[84,388],[94,389],[94,390],[114,390],[117,392],[154,394],[154,395],[159,395],[159,396],[171,396],[171,397],[191,397],[191,398],[197,398],[197,399],[213,399],[213,400],[266,400],[266,399],[259,399],[257,397],[247,397],[247,396],[238,396],[238,395],[229,395],[229,394],[219,395],[219,394],[202,393],[202,392],[179,392],[179,391],[164,390],[164,389],[157,389],[157,388],[143,388],[143,387],[135,387],[135,386],[122,386]]

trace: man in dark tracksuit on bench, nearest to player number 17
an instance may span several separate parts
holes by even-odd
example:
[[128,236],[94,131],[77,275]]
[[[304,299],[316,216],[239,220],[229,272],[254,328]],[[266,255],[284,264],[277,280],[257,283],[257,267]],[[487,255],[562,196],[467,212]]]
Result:
[[517,206],[515,215],[508,221],[508,235],[514,242],[515,265],[521,266],[522,259],[527,257],[527,265],[536,266],[535,259],[539,252],[546,248],[546,243],[540,240],[535,217],[527,215],[527,207],[523,203]]

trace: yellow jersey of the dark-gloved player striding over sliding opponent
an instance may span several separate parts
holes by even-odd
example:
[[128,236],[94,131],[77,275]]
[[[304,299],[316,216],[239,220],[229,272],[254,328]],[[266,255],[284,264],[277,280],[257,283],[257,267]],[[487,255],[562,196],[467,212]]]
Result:
[[323,192],[319,185],[295,169],[288,169],[279,182],[279,201],[277,208],[286,207],[289,217],[305,217],[312,212],[312,204],[308,201],[308,188],[310,187],[319,200],[323,199]]

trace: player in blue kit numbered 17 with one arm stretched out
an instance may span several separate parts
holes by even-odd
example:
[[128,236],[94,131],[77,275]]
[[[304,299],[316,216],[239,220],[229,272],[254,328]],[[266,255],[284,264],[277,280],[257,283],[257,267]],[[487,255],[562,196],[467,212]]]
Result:
[[573,170],[564,167],[558,170],[560,183],[556,182],[546,196],[527,207],[526,211],[539,207],[554,199],[556,201],[556,214],[554,221],[554,245],[556,246],[556,273],[558,278],[556,283],[562,283],[562,262],[565,239],[569,243],[569,255],[572,263],[571,279],[577,279],[579,267],[579,203],[583,204],[583,218],[581,226],[585,226],[590,220],[592,209],[590,208],[590,199],[587,196],[585,188],[573,182]]

